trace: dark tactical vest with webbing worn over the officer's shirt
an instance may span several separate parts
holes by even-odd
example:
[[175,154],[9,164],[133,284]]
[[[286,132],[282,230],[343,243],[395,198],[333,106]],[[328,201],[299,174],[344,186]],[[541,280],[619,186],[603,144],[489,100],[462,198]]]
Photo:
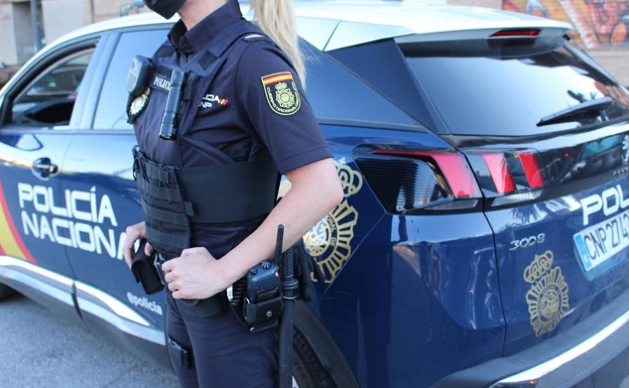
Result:
[[[150,131],[143,128],[140,133],[136,126],[139,147],[133,150],[133,174],[145,215],[146,238],[158,252],[171,257],[190,247],[191,223],[247,221],[270,213],[276,203],[280,175],[270,155],[235,164],[182,167],[179,139],[191,126],[201,99],[225,59],[230,55],[240,58],[243,46],[253,39],[269,39],[245,21],[230,25],[216,38],[225,42],[218,57],[200,52],[180,69],[187,73],[189,85],[183,93],[186,108],[179,119],[180,134],[172,141],[159,138],[159,128],[153,126],[161,123],[162,116],[143,118],[143,126],[151,126]],[[163,65],[161,59],[171,57],[174,50],[166,43],[152,58],[154,70],[148,87],[153,96],[169,92],[159,79],[170,79],[174,67]],[[162,95],[158,103],[163,101]],[[164,109],[157,111],[163,114]],[[135,119],[130,114],[130,123]],[[153,157],[147,150],[154,153]]]

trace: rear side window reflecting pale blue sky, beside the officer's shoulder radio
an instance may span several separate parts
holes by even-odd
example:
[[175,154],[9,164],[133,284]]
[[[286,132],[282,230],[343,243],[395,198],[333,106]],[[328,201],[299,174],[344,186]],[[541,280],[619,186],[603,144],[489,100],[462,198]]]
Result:
[[94,116],[95,130],[131,130],[126,122],[126,75],[135,55],[152,57],[166,40],[167,30],[123,33],[116,47]]

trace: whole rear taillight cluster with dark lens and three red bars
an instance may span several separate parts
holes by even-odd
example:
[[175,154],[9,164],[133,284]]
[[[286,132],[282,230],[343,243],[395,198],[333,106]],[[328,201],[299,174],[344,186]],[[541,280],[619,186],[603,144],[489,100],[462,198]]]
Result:
[[[547,179],[536,151],[355,148],[356,163],[391,213],[470,211],[532,201]],[[471,168],[470,168],[471,167]]]

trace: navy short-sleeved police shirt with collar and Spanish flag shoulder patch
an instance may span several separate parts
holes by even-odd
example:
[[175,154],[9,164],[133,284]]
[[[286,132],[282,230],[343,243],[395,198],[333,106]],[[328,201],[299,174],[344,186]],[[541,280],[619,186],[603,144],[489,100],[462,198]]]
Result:
[[[199,50],[213,52],[220,45],[214,35],[231,23],[248,23],[236,0],[190,31],[179,21],[169,34],[178,64]],[[226,58],[180,148],[184,167],[255,160],[268,150],[282,174],[331,157],[298,75],[264,36],[252,36],[240,55]]]

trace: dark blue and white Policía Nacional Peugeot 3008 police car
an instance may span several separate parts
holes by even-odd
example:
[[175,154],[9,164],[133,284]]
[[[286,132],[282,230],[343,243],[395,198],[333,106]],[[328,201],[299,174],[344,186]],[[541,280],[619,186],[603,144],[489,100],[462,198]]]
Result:
[[[618,387],[626,89],[548,19],[389,2],[297,13],[344,191],[304,236],[325,282],[296,308],[299,386]],[[125,78],[171,23],[82,28],[0,92],[0,297],[164,365],[164,295],[143,294],[121,245],[142,219]],[[55,89],[60,69],[84,72]]]

